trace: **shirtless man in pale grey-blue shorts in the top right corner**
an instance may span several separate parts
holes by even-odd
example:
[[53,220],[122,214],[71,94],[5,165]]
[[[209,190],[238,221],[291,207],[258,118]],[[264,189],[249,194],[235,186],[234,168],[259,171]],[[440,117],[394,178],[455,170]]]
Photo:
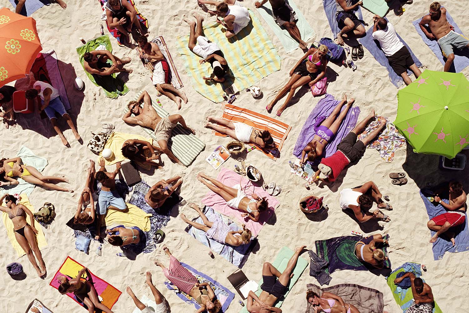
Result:
[[[427,24],[431,32],[425,28]],[[469,47],[469,40],[454,32],[454,27],[446,20],[446,8],[441,8],[439,2],[433,2],[430,5],[429,14],[422,18],[419,26],[425,36],[438,41],[441,52],[446,57],[445,72],[448,72],[454,61],[453,48],[461,50]]]

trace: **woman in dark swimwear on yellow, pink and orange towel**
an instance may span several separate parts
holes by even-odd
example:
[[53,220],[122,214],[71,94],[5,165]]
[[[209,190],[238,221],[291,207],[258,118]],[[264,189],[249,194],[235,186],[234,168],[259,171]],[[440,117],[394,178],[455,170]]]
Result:
[[[83,274],[86,273],[86,280],[82,280]],[[71,278],[71,277],[70,277]],[[83,301],[88,306],[88,312],[94,313],[94,309],[100,309],[106,313],[113,313],[106,305],[99,302],[98,293],[93,286],[93,278],[87,267],[83,267],[76,275],[75,278],[70,280],[65,276],[57,276],[57,280],[61,282],[59,292],[66,295],[68,292],[73,292],[76,298]]]

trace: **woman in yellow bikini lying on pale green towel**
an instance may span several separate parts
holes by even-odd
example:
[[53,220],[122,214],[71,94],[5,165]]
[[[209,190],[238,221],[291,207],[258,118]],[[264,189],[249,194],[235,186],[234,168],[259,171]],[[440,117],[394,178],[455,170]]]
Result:
[[21,158],[0,160],[0,186],[17,185],[19,182],[13,177],[20,177],[27,183],[39,185],[57,191],[73,192],[67,188],[57,186],[46,181],[57,181],[68,183],[65,178],[58,176],[43,176],[39,171],[26,164],[21,164]]

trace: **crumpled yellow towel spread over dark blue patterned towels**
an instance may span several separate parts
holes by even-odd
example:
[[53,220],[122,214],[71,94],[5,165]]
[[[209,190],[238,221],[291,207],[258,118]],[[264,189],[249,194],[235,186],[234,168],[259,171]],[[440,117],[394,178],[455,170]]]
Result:
[[107,210],[105,217],[106,227],[109,228],[112,225],[124,225],[128,227],[136,226],[143,231],[150,231],[150,217],[151,214],[145,213],[140,208],[133,204],[127,203],[129,210]]

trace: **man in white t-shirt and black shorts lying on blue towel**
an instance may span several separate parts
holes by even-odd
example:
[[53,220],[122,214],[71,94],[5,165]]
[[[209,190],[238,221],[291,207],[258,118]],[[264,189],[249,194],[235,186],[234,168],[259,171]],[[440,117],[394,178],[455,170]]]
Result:
[[412,80],[407,75],[407,69],[414,72],[416,78],[420,76],[422,72],[415,65],[407,47],[404,46],[399,37],[397,37],[393,24],[378,15],[375,15],[373,19],[375,23],[371,37],[379,41],[381,50],[383,50],[386,55],[387,61],[389,61],[389,65],[391,65],[394,72],[402,77],[406,85],[412,83]]

